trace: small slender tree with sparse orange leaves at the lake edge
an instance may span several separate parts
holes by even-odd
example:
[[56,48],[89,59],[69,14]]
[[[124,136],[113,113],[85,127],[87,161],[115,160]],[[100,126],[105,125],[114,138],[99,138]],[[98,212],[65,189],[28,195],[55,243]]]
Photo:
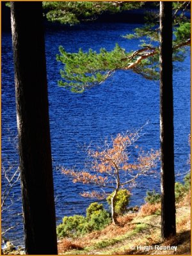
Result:
[[[143,152],[134,145],[139,138],[138,132],[118,134],[116,138],[111,138],[110,143],[104,141],[102,148],[97,150],[88,149],[88,156],[91,165],[88,170],[68,170],[62,168],[62,172],[70,175],[73,182],[81,182],[102,188],[102,193],[93,190],[82,193],[82,196],[104,198],[106,191],[113,191],[111,196],[111,217],[116,224],[115,202],[116,195],[121,188],[133,186],[136,179],[141,175],[152,173],[152,168],[156,166],[159,159],[159,150]],[[138,157],[132,159],[132,154],[138,151]]]

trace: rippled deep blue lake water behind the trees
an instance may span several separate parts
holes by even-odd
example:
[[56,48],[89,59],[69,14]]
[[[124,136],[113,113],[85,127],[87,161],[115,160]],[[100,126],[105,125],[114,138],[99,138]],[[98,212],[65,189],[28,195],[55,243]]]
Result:
[[[90,47],[111,50],[115,42],[127,51],[138,49],[138,40],[126,40],[122,35],[130,33],[139,24],[95,23],[71,28],[47,29],[45,33],[47,78],[49,88],[49,114],[51,125],[51,146],[54,167],[54,191],[58,223],[63,216],[84,214],[93,202],[82,198],[79,193],[90,187],[73,184],[61,174],[58,166],[83,167],[86,159],[82,148],[84,143],[92,145],[115,136],[120,132],[132,131],[146,125],[138,145],[145,150],[159,149],[159,82],[148,81],[131,70],[117,71],[105,83],[82,94],[71,93],[57,85],[60,79],[61,63],[56,61],[58,46],[77,52],[79,47],[88,51]],[[30,49],[29,49],[30,51]],[[30,61],[30,60],[29,60]],[[175,173],[186,173],[190,132],[190,52],[183,63],[176,63],[173,74],[174,127],[175,127]],[[33,76],[33,74],[31,74]],[[15,114],[15,88],[13,76],[12,38],[10,33],[2,35],[2,162],[17,166],[17,122]],[[38,93],[38,92],[36,92]],[[159,191],[159,166],[157,177],[143,177],[137,188],[132,189],[131,205],[140,205],[148,189]],[[183,175],[177,176],[182,180]],[[5,181],[2,177],[2,186]],[[15,186],[14,195],[20,196],[20,184]],[[107,206],[107,205],[106,205]],[[21,221],[20,200],[3,213],[3,227],[10,227]],[[15,244],[22,244],[22,224],[6,236]]]

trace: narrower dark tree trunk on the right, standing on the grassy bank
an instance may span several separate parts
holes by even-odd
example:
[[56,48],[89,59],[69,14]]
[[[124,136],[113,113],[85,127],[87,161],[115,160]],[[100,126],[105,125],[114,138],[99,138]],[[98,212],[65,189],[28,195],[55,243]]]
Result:
[[172,2],[160,2],[161,237],[176,234],[173,141]]

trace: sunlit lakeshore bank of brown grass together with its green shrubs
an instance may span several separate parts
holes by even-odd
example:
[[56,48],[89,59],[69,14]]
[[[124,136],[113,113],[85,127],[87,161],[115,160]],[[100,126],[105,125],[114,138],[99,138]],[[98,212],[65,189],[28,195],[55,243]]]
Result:
[[[161,203],[159,195],[152,192],[147,194],[145,198],[147,203],[142,205],[138,212],[118,216],[118,225],[108,222],[108,212],[98,203],[93,203],[86,209],[86,217],[63,218],[65,221],[60,228],[61,231],[63,228],[61,234],[65,238],[60,238],[58,241],[58,253],[60,255],[191,255],[190,184],[189,177],[185,179],[184,184],[175,184],[177,236],[161,241]],[[97,230],[88,232],[89,228],[93,227]],[[8,242],[1,254],[20,255],[24,254],[24,250],[22,248],[15,250],[15,246]]]

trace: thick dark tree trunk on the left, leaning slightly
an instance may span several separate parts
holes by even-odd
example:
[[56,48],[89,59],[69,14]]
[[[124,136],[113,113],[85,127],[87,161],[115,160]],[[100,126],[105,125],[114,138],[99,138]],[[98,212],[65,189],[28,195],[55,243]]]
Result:
[[42,2],[11,2],[26,253],[57,254]]

